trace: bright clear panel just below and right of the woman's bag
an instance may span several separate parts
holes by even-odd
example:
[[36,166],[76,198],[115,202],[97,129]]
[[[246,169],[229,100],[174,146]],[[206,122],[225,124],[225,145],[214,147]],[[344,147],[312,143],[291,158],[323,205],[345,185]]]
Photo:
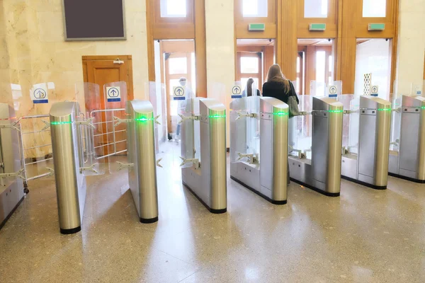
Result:
[[[298,96],[300,104],[298,108],[302,112],[312,112],[313,96]],[[298,156],[298,152],[303,152],[307,158],[311,158],[312,147],[312,115],[295,116],[289,119],[288,145],[290,155]]]

